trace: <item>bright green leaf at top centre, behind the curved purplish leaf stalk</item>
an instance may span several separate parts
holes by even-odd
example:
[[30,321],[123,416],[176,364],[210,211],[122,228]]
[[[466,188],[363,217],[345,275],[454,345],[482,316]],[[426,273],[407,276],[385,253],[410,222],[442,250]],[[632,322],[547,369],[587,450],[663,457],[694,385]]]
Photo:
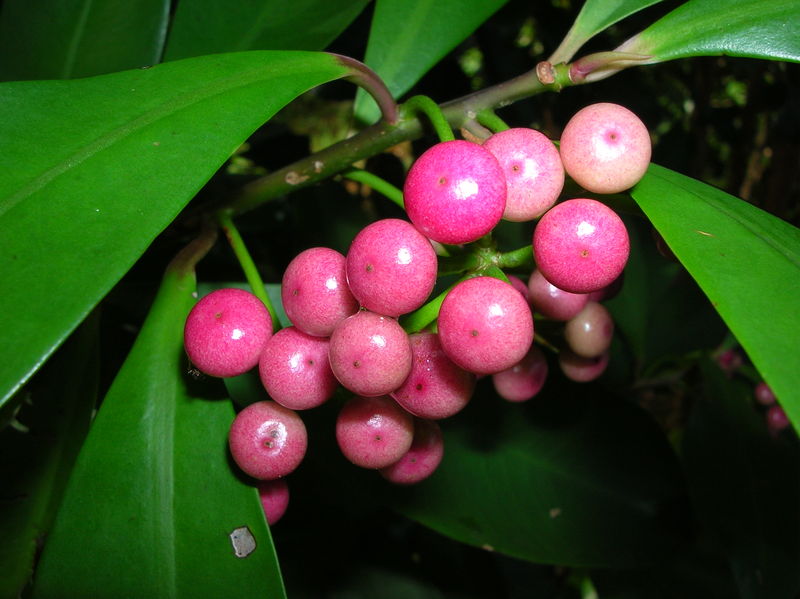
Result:
[[[376,0],[364,62],[401,96],[508,0]],[[356,116],[379,116],[363,90]]]

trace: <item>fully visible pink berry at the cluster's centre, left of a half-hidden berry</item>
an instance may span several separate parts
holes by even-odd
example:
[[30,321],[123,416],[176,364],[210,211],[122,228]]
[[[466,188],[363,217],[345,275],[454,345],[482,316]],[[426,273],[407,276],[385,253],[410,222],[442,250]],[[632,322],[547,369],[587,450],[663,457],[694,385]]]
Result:
[[333,374],[350,391],[386,395],[411,372],[411,344],[397,321],[361,310],[343,320],[328,349]]

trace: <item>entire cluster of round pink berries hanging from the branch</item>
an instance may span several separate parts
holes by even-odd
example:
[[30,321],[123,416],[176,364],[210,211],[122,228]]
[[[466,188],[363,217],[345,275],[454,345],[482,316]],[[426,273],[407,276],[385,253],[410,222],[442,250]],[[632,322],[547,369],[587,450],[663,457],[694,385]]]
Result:
[[[548,363],[534,345],[535,314],[564,323],[559,364],[566,376],[598,377],[614,330],[599,302],[621,284],[628,235],[597,200],[556,201],[565,173],[589,192],[616,193],[636,183],[649,160],[647,129],[615,104],[578,112],[560,148],[523,128],[483,144],[442,142],[409,170],[403,196],[411,222],[368,225],[346,256],[317,247],[291,261],[281,299],[292,326],[273,332],[264,305],[239,289],[202,298],[185,327],[194,366],[219,377],[258,366],[271,398],[242,410],[229,436],[238,466],[263,481],[270,522],[288,501],[283,477],[306,452],[298,411],[328,401],[339,386],[352,393],[335,424],[342,454],[409,484],[438,466],[443,441],[436,421],[467,405],[479,376],[491,375],[509,401],[539,392]],[[406,331],[399,317],[424,310],[437,282],[432,242],[469,252],[464,244],[491,233],[501,219],[538,219],[536,268],[527,283],[476,267],[449,289],[432,325]]]

